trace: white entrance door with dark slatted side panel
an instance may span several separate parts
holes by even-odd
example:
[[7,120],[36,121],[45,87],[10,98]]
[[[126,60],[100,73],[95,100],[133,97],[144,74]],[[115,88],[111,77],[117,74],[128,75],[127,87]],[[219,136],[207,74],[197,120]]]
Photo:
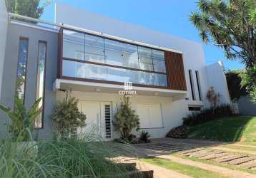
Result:
[[112,107],[110,102],[81,101],[79,108],[87,116],[86,126],[78,132],[104,140],[112,138]]

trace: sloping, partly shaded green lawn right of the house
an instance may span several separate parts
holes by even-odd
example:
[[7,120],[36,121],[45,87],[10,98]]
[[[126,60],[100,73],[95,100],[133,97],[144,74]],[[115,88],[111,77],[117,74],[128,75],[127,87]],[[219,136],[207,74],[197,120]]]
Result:
[[226,142],[256,143],[256,117],[224,117],[189,127],[189,137]]

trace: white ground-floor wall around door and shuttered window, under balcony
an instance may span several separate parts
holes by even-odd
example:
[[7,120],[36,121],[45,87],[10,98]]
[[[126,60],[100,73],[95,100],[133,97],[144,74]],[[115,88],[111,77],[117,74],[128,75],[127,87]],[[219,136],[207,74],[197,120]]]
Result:
[[[73,97],[79,98],[79,101],[99,101],[99,102],[111,102],[113,113],[117,112],[117,105],[120,104],[121,96],[119,94],[111,93],[92,93],[92,92],[75,92],[70,94]],[[58,91],[57,100],[63,100],[65,93]],[[187,104],[182,100],[172,101],[171,97],[159,97],[159,96],[132,96],[130,99],[132,103],[132,109],[137,110],[137,106],[141,103],[154,103],[160,104],[162,108],[162,118],[155,118],[158,122],[163,122],[162,128],[143,129],[147,130],[151,137],[165,137],[167,132],[172,127],[182,125],[182,117],[187,115]],[[134,132],[134,134],[137,134]],[[115,132],[114,137],[119,137],[119,133]]]

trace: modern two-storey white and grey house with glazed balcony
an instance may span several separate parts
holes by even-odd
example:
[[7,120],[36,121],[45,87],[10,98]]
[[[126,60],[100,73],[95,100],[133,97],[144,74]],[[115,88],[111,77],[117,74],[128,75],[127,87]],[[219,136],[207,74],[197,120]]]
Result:
[[[68,13],[67,13],[68,12]],[[107,140],[124,83],[132,84],[132,108],[141,130],[164,137],[182,117],[208,107],[210,86],[230,103],[222,63],[206,66],[200,43],[56,4],[55,22],[8,14],[0,4],[0,103],[14,108],[19,95],[27,108],[43,98],[36,120],[39,137],[54,131],[51,114],[66,93],[79,98],[87,126]],[[121,92],[120,92],[121,91]],[[121,94],[120,94],[121,93]],[[1,131],[9,119],[0,112]]]

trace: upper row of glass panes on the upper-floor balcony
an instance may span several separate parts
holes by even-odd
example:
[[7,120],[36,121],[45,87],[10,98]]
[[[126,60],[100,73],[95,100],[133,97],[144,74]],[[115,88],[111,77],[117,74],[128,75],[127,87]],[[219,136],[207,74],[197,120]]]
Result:
[[63,31],[63,57],[165,73],[164,51]]

